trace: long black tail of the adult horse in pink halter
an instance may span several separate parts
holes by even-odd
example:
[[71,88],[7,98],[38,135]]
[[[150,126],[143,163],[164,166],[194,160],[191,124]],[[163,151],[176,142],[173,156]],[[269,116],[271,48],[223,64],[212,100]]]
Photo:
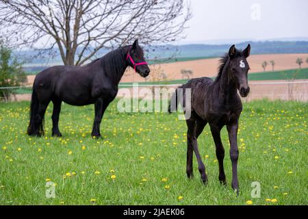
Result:
[[[34,81],[35,83],[35,81]],[[30,105],[30,123],[27,129],[27,134],[29,136],[41,136],[44,135],[43,123],[44,120],[38,123],[36,115],[38,114],[38,107],[40,102],[38,101],[38,94],[36,93],[36,88],[32,88],[31,105]]]

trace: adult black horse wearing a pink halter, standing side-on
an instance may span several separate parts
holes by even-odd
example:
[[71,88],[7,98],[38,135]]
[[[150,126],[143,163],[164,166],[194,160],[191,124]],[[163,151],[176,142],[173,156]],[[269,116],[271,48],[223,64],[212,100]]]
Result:
[[100,137],[103,114],[118,92],[118,83],[127,66],[142,77],[150,73],[138,40],[131,46],[120,47],[86,66],[53,66],[43,70],[34,80],[31,97],[29,136],[44,135],[44,114],[53,102],[53,136],[62,136],[58,122],[61,103],[89,105],[94,103],[95,118],[92,136]]

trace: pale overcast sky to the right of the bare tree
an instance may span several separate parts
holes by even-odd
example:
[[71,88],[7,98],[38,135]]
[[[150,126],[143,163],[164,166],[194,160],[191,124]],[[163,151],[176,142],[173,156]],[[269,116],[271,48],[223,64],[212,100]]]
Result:
[[181,42],[308,38],[307,0],[191,0],[191,6]]

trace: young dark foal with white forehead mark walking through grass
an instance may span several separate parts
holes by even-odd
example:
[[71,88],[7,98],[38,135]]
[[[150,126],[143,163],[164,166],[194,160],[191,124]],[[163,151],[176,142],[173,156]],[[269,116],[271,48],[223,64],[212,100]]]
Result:
[[[220,60],[218,76],[213,81],[208,77],[191,79],[183,86],[183,96],[185,88],[191,88],[191,116],[186,118],[188,127],[188,151],[187,151],[187,168],[188,177],[193,177],[192,155],[196,154],[198,161],[198,170],[201,173],[201,179],[207,182],[205,166],[202,162],[201,155],[198,151],[197,138],[202,133],[205,125],[209,123],[211,135],[216,145],[216,157],[219,164],[219,177],[221,183],[226,184],[226,176],[224,175],[224,146],[220,139],[220,130],[227,125],[230,142],[230,157],[232,162],[232,188],[238,193],[238,120],[242,112],[242,101],[238,95],[238,90],[242,97],[246,97],[249,93],[248,86],[248,70],[249,65],[246,57],[249,56],[251,46],[244,51],[235,49],[233,45]],[[177,88],[177,90],[179,89]],[[177,108],[177,93],[172,96],[169,112]],[[185,109],[185,98],[179,98],[179,102]]]

